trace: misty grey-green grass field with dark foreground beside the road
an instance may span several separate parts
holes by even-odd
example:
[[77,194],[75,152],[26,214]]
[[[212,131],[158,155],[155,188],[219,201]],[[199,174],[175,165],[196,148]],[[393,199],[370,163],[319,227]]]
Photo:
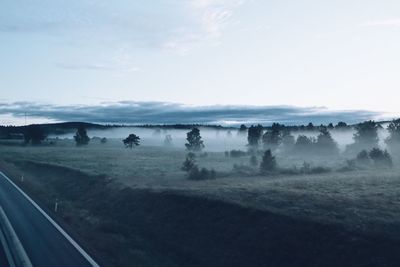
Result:
[[[355,260],[352,266],[368,266],[368,261],[360,260],[362,255],[377,253],[376,257],[380,258],[390,252],[386,248],[390,242],[394,242],[391,245],[394,249],[399,248],[400,173],[397,168],[340,172],[335,170],[344,164],[345,159],[314,159],[310,161],[315,166],[328,165],[334,171],[243,176],[234,172],[232,167],[233,164],[248,164],[248,157],[228,158],[223,152],[208,152],[207,155],[198,156],[197,161],[201,167],[215,169],[217,179],[190,181],[180,170],[186,156],[183,149],[142,146],[129,150],[123,148],[120,141],[110,140],[107,144],[92,143],[88,147],[75,147],[72,141],[38,147],[8,144],[1,145],[0,151],[3,166],[15,177],[24,174],[26,181],[23,186],[45,205],[51,207],[55,198],[63,201],[62,219],[85,242],[90,243],[87,240],[93,238],[108,240],[117,248],[125,246],[132,250],[128,253],[128,260],[119,254],[118,249],[110,250],[98,242],[94,246],[95,253],[99,257],[112,259],[107,262],[110,266],[129,266],[125,263],[133,259],[142,262],[142,266],[232,266],[227,259],[229,255],[232,257],[238,253],[238,249],[245,250],[244,255],[248,260],[253,259],[254,264],[257,261],[275,260],[277,262],[269,266],[292,266],[282,258],[285,253],[298,253],[302,245],[307,250],[331,247],[332,255],[343,253],[344,248],[354,253],[360,250],[360,255],[347,255],[346,261]],[[278,163],[286,167],[300,167],[302,161],[301,158],[278,157]],[[142,201],[148,203],[137,203]],[[187,206],[180,201],[186,201]],[[182,212],[187,216],[178,215]],[[256,218],[253,218],[253,222],[245,218],[239,220],[236,213],[239,217]],[[141,219],[138,220],[137,216]],[[135,220],[138,220],[138,225],[133,223]],[[199,220],[204,222],[205,228],[197,225]],[[263,225],[264,220],[268,221],[266,225]],[[121,225],[122,222],[133,223],[134,228]],[[274,236],[276,247],[268,247],[264,243],[268,240],[254,239],[257,234],[272,234],[265,227],[284,232],[285,229],[276,228],[278,222],[285,225],[295,238],[283,236],[277,240]],[[146,224],[151,230],[145,227]],[[181,234],[180,230],[174,228],[179,228],[179,224],[183,227]],[[95,233],[87,230],[93,225]],[[217,230],[223,225],[227,232],[221,233],[221,240],[232,242],[234,237],[230,235],[237,235],[239,230],[235,227],[239,227],[240,232],[246,235],[243,244],[228,246],[219,243],[215,245],[215,250],[208,248],[217,242]],[[194,227],[193,231],[191,227]],[[249,230],[252,227],[255,228]],[[320,232],[313,233],[309,240],[307,235],[313,227]],[[302,236],[302,231],[307,231],[307,235]],[[217,236],[209,236],[213,234]],[[337,240],[339,237],[341,240]],[[199,239],[200,244],[194,244],[191,238]],[[171,239],[179,240],[187,251]],[[246,246],[252,242],[262,242],[260,246],[266,247],[258,248],[261,251],[252,247],[254,251],[251,252]],[[322,245],[324,242],[326,244]],[[377,243],[372,245],[371,242]],[[166,247],[162,249],[160,244]],[[226,255],[224,246],[227,246]],[[287,246],[287,251],[278,253],[277,258],[262,256],[263,249],[274,250],[279,246]],[[355,250],[352,251],[352,248]],[[211,258],[205,257],[205,252],[210,257],[223,255],[227,262],[213,264]],[[315,264],[322,264],[332,257],[329,253],[322,258],[313,256],[310,251],[307,253],[303,255],[304,258],[296,256],[298,263],[314,260]],[[387,265],[391,266],[392,254],[385,257],[389,260]],[[242,260],[237,259],[239,262]]]

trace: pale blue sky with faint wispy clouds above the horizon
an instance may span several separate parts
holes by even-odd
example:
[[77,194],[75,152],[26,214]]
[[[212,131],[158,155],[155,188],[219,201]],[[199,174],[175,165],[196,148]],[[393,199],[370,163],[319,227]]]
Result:
[[0,124],[154,102],[396,117],[398,47],[398,0],[2,0]]

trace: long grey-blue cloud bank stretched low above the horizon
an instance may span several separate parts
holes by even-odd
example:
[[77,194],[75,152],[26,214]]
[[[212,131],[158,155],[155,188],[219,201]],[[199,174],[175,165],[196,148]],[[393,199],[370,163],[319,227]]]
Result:
[[[222,124],[239,125],[280,122],[288,125],[356,123],[381,117],[371,111],[338,111],[293,106],[187,106],[169,102],[120,101],[99,105],[50,105],[32,102],[0,103],[0,115],[44,121],[85,121],[116,124]],[[0,123],[1,124],[1,123]]]

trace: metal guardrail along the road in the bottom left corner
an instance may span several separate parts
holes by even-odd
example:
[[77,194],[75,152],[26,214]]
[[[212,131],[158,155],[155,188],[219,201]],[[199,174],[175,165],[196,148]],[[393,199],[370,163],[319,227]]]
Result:
[[33,267],[2,207],[0,207],[0,232],[0,242],[3,244],[10,266]]

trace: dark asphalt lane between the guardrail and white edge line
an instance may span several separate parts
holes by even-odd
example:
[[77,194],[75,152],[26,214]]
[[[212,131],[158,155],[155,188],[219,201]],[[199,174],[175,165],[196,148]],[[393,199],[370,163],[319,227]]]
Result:
[[[0,205],[34,267],[96,266],[92,265],[1,173]],[[3,266],[1,251],[0,266]]]

